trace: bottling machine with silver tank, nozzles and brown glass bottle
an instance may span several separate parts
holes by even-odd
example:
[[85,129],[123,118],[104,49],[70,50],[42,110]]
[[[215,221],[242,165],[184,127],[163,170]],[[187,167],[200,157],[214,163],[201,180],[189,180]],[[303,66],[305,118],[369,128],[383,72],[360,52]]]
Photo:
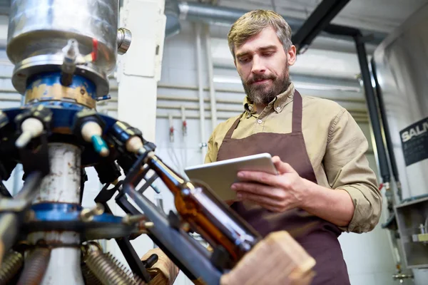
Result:
[[[118,0],[11,1],[7,55],[25,104],[0,111],[0,284],[150,284],[157,257],[141,261],[130,242],[148,234],[190,279],[215,285],[259,244],[253,228],[207,186],[165,165],[139,130],[96,112],[117,54],[130,45]],[[1,181],[18,163],[24,187],[11,197]],[[89,166],[105,186],[96,207],[84,209]],[[177,212],[143,195],[157,179]],[[108,208],[113,196],[125,217]],[[115,239],[132,272],[98,239]]]

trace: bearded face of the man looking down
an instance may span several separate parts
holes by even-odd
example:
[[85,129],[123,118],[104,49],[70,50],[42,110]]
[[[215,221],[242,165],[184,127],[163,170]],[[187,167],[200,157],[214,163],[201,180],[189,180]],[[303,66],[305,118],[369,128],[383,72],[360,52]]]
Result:
[[287,53],[272,27],[235,47],[235,66],[245,93],[255,104],[267,105],[290,85],[288,66],[295,63],[295,46]]

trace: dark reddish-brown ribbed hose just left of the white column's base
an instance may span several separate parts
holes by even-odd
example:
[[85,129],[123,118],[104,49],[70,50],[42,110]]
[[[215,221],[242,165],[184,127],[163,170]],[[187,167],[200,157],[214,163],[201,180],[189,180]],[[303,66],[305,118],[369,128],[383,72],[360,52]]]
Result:
[[36,248],[29,253],[24,270],[17,285],[38,285],[41,283],[51,258],[51,249]]

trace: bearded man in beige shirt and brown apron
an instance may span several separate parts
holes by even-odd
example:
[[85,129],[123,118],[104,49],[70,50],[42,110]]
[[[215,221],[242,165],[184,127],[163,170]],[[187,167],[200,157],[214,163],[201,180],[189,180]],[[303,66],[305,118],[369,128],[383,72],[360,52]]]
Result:
[[279,175],[240,172],[231,207],[263,236],[287,230],[317,261],[312,284],[350,284],[337,237],[369,232],[382,195],[350,113],[330,100],[302,97],[289,78],[296,61],[287,22],[250,11],[228,43],[247,97],[243,113],[220,123],[205,162],[269,152]]

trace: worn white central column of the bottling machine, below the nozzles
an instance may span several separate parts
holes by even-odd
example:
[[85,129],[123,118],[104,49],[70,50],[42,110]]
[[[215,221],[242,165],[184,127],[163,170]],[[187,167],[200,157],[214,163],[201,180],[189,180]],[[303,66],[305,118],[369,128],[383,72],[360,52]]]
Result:
[[[34,204],[59,202],[80,204],[81,150],[75,145],[65,143],[49,144],[51,172],[41,182],[39,195]],[[76,247],[56,247],[41,281],[41,285],[63,284],[83,285],[81,273],[81,240],[77,232],[34,232],[29,234],[29,242],[40,239],[46,242],[76,244]]]

